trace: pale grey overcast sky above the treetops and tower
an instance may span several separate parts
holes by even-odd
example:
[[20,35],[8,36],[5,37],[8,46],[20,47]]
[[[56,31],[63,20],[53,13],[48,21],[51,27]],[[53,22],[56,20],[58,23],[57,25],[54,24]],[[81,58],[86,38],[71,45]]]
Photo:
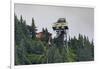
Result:
[[54,37],[52,24],[59,18],[66,18],[71,37],[78,36],[79,33],[88,36],[89,40],[94,37],[93,8],[15,4],[14,10],[18,18],[22,15],[28,25],[31,25],[32,17],[34,17],[37,32],[47,27]]

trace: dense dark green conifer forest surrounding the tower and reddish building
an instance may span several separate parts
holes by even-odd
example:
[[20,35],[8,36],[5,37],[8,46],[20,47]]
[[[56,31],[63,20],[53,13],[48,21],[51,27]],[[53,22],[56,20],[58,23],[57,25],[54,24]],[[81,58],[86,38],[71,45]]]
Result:
[[44,39],[36,38],[36,26],[34,18],[32,25],[26,24],[22,16],[20,19],[14,16],[15,22],[15,65],[61,63],[94,60],[94,44],[88,37],[79,34],[79,37],[69,38],[68,47],[63,46],[61,39],[52,39],[48,44],[48,30],[44,32]]

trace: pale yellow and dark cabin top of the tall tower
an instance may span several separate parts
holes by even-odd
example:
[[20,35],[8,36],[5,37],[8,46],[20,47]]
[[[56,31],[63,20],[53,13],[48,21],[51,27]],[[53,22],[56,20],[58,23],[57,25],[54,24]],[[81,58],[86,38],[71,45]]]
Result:
[[65,18],[59,18],[56,23],[52,25],[53,30],[65,30],[68,29],[68,23]]

